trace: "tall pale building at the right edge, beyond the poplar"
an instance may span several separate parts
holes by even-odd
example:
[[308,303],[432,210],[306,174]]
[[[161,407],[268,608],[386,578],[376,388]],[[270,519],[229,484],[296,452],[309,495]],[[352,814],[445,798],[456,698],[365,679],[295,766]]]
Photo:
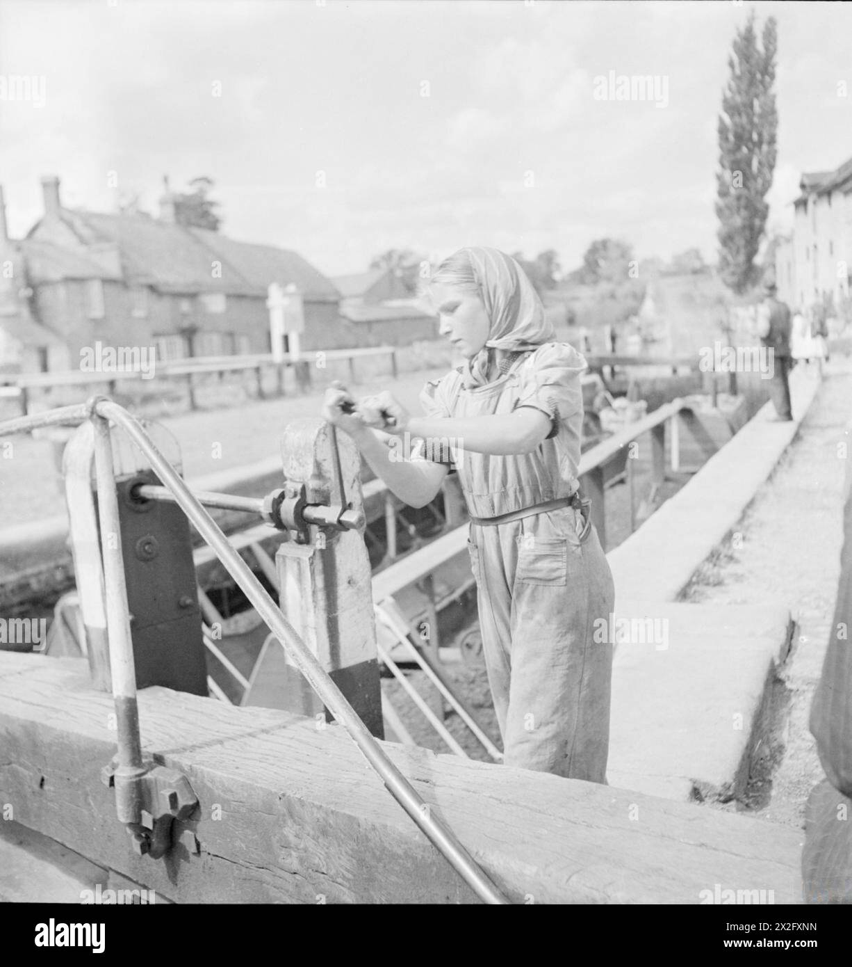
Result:
[[840,315],[852,281],[852,158],[805,172],[799,188],[793,233],[775,252],[779,298],[803,309],[831,304]]

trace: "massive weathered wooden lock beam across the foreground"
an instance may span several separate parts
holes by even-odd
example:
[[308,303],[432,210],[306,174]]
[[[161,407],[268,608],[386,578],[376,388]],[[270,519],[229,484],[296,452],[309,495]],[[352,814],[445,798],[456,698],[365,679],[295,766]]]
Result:
[[[0,653],[0,803],[16,822],[177,901],[473,901],[339,726],[169,689],[139,692],[143,747],[185,772],[199,814],[163,860],[136,857],[99,777],[112,700],[88,680],[83,659]],[[772,890],[775,903],[800,893],[795,830],[383,747],[516,902],[700,903],[717,885]]]

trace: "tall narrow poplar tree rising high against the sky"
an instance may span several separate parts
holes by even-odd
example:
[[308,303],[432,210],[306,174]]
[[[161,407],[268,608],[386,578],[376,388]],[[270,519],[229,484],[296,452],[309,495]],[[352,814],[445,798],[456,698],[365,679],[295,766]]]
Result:
[[754,13],[737,32],[728,57],[730,76],[719,115],[719,171],[716,176],[719,272],[728,288],[745,292],[757,280],[754,265],[766,227],[776,161],[778,111],[775,83],[778,32],[774,17],[763,26],[762,49]]

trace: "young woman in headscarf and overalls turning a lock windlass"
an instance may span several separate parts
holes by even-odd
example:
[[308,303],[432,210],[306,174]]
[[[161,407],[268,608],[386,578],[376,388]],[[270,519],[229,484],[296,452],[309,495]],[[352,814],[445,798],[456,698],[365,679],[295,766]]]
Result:
[[[355,400],[342,389],[327,392],[324,415],[412,507],[433,500],[450,469],[430,442],[458,443],[504,761],[606,782],[613,585],[578,492],[585,360],[554,342],[523,269],[497,249],[460,249],[427,293],[467,362],[427,383],[426,415],[388,393],[347,414]],[[405,434],[419,441],[411,459],[393,439]]]

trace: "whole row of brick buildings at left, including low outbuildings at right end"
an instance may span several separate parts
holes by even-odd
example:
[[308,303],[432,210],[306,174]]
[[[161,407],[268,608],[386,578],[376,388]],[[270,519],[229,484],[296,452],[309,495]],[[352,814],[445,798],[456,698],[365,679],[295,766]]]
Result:
[[154,218],[65,208],[54,176],[42,189],[14,240],[0,188],[0,372],[74,368],[98,340],[162,360],[267,353],[271,283],[301,296],[302,350],[437,337],[392,270],[327,278],[298,252],[179,224],[168,191]]

